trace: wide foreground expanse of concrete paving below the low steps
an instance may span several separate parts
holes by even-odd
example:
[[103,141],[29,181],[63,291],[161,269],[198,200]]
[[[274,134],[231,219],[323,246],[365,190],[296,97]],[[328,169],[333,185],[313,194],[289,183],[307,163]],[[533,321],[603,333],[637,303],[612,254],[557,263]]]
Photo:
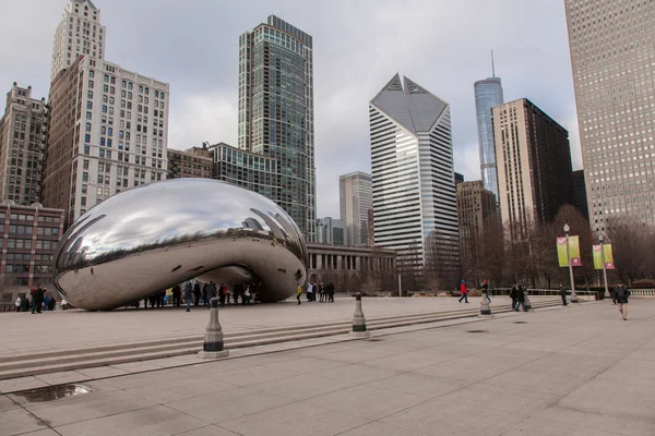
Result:
[[0,396],[0,434],[655,434],[655,300],[511,314]]

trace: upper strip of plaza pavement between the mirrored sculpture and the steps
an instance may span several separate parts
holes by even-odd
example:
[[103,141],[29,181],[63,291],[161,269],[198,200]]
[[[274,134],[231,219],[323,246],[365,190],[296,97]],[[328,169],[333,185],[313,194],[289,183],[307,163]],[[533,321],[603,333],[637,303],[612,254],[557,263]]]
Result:
[[[495,305],[509,306],[509,298],[492,298]],[[537,302],[540,299],[532,298]],[[455,298],[371,298],[364,300],[368,317],[408,315],[426,312],[479,307],[479,298],[471,304],[460,304]],[[493,307],[493,305],[492,305]],[[221,324],[225,332],[260,328],[299,326],[323,322],[353,319],[355,299],[336,298],[334,303],[309,303],[295,299],[275,304],[250,306],[227,305],[221,308]],[[148,310],[117,310],[111,312],[55,311],[40,315],[28,313],[0,314],[0,359],[39,351],[86,349],[131,342],[178,339],[204,335],[209,311],[203,306]]]

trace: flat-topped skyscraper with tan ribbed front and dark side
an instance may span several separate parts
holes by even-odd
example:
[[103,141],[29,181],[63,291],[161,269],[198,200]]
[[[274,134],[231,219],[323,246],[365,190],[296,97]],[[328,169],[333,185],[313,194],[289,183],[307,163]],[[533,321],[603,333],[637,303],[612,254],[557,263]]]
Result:
[[569,132],[527,98],[492,113],[501,218],[521,240],[573,204]]

